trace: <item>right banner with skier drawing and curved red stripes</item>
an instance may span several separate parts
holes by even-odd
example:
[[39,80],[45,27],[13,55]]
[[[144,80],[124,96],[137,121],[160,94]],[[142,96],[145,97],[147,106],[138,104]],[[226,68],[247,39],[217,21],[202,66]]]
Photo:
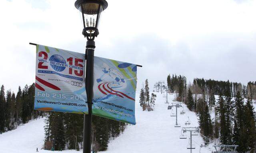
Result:
[[137,65],[94,57],[92,114],[135,124]]

